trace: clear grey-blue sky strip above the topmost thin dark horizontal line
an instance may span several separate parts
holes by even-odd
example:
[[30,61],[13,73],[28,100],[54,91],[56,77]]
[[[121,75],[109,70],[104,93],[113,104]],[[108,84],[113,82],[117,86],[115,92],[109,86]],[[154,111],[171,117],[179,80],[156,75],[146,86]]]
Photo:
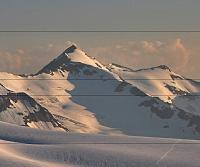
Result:
[[6,28],[195,30],[199,0],[1,0]]

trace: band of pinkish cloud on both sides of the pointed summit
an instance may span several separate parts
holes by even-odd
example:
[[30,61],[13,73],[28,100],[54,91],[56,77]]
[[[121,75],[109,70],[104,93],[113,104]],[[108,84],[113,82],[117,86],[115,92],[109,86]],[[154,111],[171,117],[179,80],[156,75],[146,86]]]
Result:
[[[61,45],[48,43],[26,50],[0,49],[1,71],[13,73],[35,73],[49,61],[58,56],[71,42]],[[106,46],[84,48],[89,55],[104,64],[117,63],[133,69],[165,64],[175,72],[184,74],[188,68],[191,51],[182,39],[163,41],[126,41]],[[2,70],[3,69],[3,70]]]

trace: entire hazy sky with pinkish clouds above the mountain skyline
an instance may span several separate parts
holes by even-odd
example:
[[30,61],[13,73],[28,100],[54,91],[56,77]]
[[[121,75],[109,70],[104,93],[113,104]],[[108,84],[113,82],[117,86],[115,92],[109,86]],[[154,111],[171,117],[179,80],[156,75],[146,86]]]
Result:
[[[0,30],[192,31],[200,30],[199,7],[199,0],[0,0]],[[62,52],[67,41],[103,63],[115,61],[132,68],[165,63],[193,78],[200,72],[200,33],[148,32],[0,32],[0,58],[4,60],[0,70],[35,72]],[[152,52],[152,47],[157,51]],[[180,59],[185,60],[184,66]]]

